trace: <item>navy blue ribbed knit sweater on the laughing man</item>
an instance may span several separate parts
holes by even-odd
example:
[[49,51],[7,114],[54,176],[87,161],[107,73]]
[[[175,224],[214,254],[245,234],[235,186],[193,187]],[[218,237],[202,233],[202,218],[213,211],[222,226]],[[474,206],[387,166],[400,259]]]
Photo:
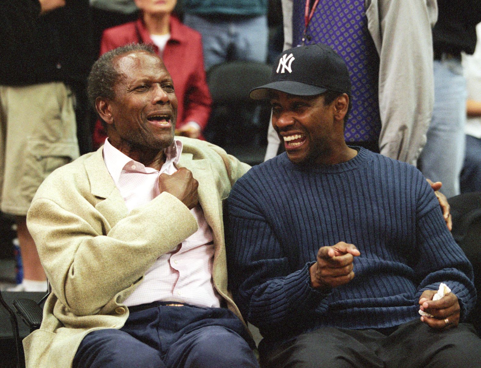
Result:
[[[229,287],[266,342],[319,326],[386,328],[419,318],[445,282],[461,318],[476,300],[472,268],[421,173],[361,148],[347,162],[304,168],[285,153],[254,166],[228,197]],[[354,244],[354,279],[324,294],[308,268],[319,247]]]

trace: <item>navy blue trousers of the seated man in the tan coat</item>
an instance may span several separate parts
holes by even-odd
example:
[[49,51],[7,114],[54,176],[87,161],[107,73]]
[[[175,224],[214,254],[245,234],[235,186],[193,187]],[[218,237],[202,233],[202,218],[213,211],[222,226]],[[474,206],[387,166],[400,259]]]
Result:
[[90,332],[73,367],[259,367],[252,338],[230,310],[164,304],[130,307],[122,329]]

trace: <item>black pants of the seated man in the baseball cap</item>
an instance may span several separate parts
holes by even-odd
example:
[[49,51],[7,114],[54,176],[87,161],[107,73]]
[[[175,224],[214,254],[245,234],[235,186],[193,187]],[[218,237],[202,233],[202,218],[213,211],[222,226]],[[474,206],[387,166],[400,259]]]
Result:
[[320,328],[277,349],[262,349],[268,368],[479,368],[481,339],[472,325],[445,331],[415,319],[384,335],[376,330]]

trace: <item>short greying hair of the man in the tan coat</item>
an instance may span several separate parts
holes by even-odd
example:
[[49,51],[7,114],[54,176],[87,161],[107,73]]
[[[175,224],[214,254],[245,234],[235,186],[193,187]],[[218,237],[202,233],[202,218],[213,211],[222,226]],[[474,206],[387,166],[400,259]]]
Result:
[[87,81],[87,94],[94,109],[95,100],[98,97],[110,99],[115,97],[114,85],[117,82],[120,73],[115,69],[114,59],[117,56],[133,51],[145,51],[157,55],[151,45],[131,43],[108,51],[95,61]]

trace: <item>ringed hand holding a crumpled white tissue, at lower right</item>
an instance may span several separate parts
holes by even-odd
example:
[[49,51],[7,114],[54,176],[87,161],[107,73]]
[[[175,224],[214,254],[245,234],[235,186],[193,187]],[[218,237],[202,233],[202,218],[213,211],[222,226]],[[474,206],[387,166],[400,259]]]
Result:
[[456,327],[459,324],[459,302],[453,293],[444,295],[441,299],[432,300],[436,294],[435,290],[425,290],[420,298],[420,309],[432,315],[422,316],[421,321],[433,329],[444,329]]

